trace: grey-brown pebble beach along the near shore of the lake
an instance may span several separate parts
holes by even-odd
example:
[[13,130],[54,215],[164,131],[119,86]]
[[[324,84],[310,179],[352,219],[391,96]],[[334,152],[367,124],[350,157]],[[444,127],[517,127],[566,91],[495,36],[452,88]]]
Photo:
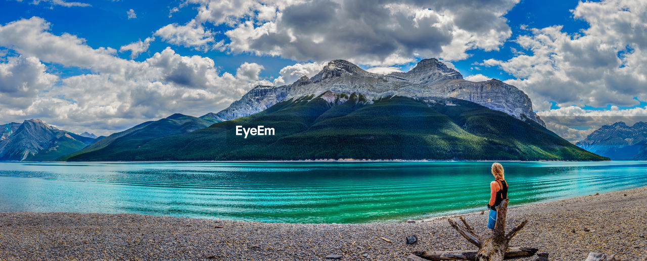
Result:
[[[592,194],[510,208],[508,229],[529,220],[511,244],[538,248],[549,253],[549,260],[584,260],[589,251],[647,260],[647,187]],[[463,217],[477,233],[488,233],[486,214]],[[476,250],[446,218],[405,221],[276,224],[142,214],[0,213],[0,260],[330,260],[328,255],[406,260],[412,251]],[[411,235],[418,240],[407,244]]]

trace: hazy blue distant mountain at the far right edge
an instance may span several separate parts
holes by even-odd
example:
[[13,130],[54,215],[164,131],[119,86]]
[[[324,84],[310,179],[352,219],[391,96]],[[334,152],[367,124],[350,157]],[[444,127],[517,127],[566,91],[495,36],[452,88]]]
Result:
[[576,145],[611,160],[647,160],[647,123],[604,125]]

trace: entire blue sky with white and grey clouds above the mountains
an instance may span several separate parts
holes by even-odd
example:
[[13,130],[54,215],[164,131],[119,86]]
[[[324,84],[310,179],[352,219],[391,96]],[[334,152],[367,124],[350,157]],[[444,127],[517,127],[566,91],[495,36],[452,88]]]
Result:
[[388,74],[430,57],[523,90],[569,141],[647,120],[641,0],[0,0],[0,120],[107,135],[332,59]]

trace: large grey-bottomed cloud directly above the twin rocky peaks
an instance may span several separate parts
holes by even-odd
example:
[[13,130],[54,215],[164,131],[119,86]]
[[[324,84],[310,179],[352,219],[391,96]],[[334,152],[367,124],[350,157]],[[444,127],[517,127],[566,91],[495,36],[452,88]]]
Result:
[[413,57],[459,60],[468,50],[498,50],[511,35],[503,15],[518,0],[190,2],[199,5],[197,23],[233,27],[225,47],[236,54],[390,67]]

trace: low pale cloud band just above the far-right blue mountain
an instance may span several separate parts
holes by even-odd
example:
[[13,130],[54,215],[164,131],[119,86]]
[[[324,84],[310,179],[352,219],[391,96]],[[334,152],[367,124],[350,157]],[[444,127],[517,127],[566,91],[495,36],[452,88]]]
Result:
[[584,140],[587,135],[604,125],[623,121],[633,125],[638,121],[647,121],[647,107],[619,109],[612,106],[610,110],[585,110],[577,106],[538,112],[546,121],[548,129],[573,143]]

